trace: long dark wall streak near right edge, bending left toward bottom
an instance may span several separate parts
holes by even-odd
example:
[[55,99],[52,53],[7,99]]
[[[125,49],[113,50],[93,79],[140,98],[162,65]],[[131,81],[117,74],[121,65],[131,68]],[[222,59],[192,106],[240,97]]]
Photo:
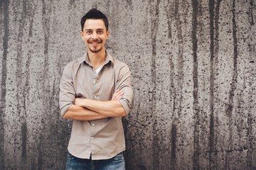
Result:
[[228,145],[228,151],[226,155],[226,160],[225,160],[225,168],[226,169],[231,169],[230,166],[230,154],[233,152],[233,128],[232,128],[232,123],[233,123],[233,106],[234,106],[234,96],[235,96],[235,89],[237,86],[237,79],[238,79],[238,38],[237,38],[237,26],[236,26],[236,21],[235,21],[235,0],[233,0],[233,6],[232,6],[232,25],[233,25],[233,77],[232,77],[232,82],[231,82],[231,89],[229,92],[229,98],[228,98],[228,106],[226,108],[226,113],[229,118],[229,123],[228,123],[228,130],[229,130],[229,145]]

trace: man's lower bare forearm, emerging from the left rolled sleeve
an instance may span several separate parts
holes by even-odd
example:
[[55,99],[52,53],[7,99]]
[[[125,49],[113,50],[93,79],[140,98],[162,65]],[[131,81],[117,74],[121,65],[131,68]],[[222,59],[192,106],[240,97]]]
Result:
[[63,118],[69,118],[73,120],[98,120],[102,118],[107,118],[107,116],[97,113],[95,111],[90,111],[87,108],[72,105],[70,106],[70,108],[68,108],[68,111],[63,115]]

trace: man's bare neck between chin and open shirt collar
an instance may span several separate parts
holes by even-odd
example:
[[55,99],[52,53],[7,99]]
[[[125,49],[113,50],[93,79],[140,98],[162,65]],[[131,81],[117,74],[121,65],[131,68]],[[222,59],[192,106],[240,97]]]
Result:
[[101,50],[100,52],[91,52],[88,50],[88,57],[94,69],[97,69],[105,62],[106,56],[107,52],[105,50]]

